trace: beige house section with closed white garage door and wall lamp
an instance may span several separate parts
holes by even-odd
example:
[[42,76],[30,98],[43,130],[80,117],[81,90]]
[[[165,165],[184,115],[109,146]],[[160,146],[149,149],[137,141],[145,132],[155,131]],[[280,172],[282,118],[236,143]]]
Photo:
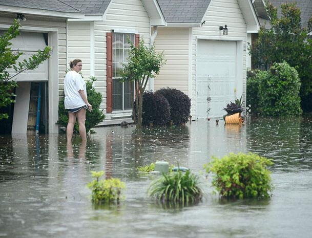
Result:
[[169,86],[189,95],[195,119],[222,117],[227,103],[245,101],[247,34],[260,28],[252,1],[158,3],[167,26],[158,27],[155,46],[167,64],[154,90]]

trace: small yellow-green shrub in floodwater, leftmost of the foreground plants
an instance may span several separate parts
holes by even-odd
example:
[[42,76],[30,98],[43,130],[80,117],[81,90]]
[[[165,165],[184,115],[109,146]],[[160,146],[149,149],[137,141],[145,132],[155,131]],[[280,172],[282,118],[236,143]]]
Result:
[[125,188],[124,183],[119,179],[114,178],[99,181],[99,178],[103,176],[104,171],[91,172],[92,177],[96,178],[87,185],[87,187],[92,190],[91,201],[95,204],[112,202],[119,204],[120,199],[123,199],[121,190]]

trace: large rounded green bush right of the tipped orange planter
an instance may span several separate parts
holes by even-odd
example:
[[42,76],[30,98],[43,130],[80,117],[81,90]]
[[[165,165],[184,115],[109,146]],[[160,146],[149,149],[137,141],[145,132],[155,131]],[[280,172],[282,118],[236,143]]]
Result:
[[271,70],[247,79],[247,92],[253,93],[247,104],[264,116],[301,115],[300,84],[295,68],[285,61],[274,63]]

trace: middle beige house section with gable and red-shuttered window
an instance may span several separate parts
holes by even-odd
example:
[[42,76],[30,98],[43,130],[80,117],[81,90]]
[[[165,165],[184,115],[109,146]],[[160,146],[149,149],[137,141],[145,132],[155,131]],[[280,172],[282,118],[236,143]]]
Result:
[[[134,44],[143,38],[150,44],[153,26],[165,26],[165,20],[156,0],[106,0],[72,1],[78,10],[84,12],[84,19],[69,19],[67,63],[82,60],[82,74],[85,80],[97,78],[95,89],[102,94],[101,108],[106,119],[100,125],[131,121],[132,105],[129,83],[120,79],[121,62],[126,62],[129,45],[127,37]],[[59,84],[63,94],[63,79]],[[150,85],[148,86],[150,89]]]

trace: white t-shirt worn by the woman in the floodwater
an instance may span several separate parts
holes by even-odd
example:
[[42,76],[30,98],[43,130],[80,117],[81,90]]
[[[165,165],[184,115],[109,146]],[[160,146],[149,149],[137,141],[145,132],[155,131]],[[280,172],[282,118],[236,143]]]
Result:
[[84,90],[87,97],[86,82],[81,75],[76,71],[69,71],[64,80],[64,106],[65,109],[75,109],[86,105],[86,102],[81,98],[79,90]]

